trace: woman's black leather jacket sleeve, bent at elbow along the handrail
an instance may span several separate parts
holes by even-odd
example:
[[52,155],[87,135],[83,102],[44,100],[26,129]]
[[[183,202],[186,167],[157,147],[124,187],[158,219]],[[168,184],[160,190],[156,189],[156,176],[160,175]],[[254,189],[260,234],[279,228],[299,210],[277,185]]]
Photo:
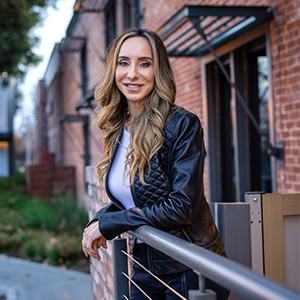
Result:
[[173,120],[171,128],[175,135],[169,155],[169,197],[142,208],[101,214],[99,229],[106,239],[141,225],[161,230],[184,228],[197,215],[203,193],[203,130],[198,117],[185,112]]

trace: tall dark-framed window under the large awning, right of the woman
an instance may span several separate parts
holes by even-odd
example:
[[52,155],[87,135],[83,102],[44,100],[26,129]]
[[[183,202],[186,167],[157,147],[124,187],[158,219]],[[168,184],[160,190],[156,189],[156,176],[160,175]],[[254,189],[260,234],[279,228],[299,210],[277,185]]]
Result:
[[[269,136],[265,36],[227,53],[221,61]],[[244,201],[248,191],[272,192],[270,156],[215,61],[206,65],[206,80],[211,201]]]

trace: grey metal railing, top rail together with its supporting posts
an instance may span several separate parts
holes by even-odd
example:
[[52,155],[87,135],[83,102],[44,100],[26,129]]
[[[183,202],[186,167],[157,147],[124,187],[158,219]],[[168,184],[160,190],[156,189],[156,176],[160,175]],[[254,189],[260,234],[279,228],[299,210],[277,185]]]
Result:
[[[241,264],[151,226],[144,225],[128,233],[200,274],[200,289],[198,293],[192,294],[189,292],[190,300],[201,299],[202,296],[206,297],[205,299],[215,299],[215,295],[208,298],[205,293],[205,277],[244,299],[299,300],[300,295],[284,285],[259,275]],[[123,240],[123,242],[120,240]],[[115,245],[118,243],[123,244],[121,247],[116,247]],[[128,295],[128,281],[122,275],[122,273],[128,273],[127,255],[124,256],[121,252],[127,252],[126,248],[125,239],[114,240],[115,299],[124,299],[123,295]],[[120,263],[121,261],[123,263]]]

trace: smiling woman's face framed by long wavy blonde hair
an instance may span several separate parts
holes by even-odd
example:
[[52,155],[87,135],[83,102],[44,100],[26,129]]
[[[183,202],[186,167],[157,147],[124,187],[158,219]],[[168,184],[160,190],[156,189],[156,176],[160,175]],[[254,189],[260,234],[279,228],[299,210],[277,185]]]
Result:
[[142,37],[124,41],[115,72],[116,84],[129,102],[144,105],[154,87],[153,57],[148,42]]

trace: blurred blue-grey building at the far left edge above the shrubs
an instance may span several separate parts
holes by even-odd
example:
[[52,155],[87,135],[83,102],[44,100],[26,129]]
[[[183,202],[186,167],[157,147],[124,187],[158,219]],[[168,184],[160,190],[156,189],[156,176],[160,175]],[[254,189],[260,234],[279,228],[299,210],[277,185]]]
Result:
[[0,76],[0,177],[14,175],[15,79]]

